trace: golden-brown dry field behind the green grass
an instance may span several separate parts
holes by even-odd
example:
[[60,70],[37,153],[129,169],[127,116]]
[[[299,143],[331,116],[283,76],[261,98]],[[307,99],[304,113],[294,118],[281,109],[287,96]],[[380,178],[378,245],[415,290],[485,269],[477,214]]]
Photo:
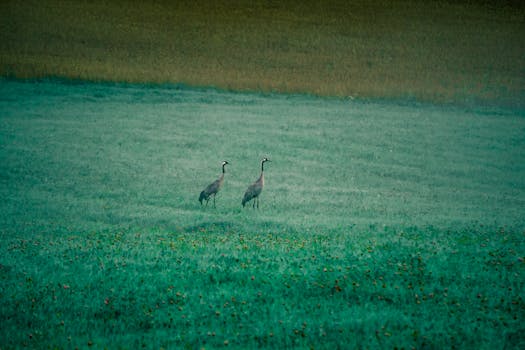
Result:
[[525,6],[8,0],[0,74],[523,106]]

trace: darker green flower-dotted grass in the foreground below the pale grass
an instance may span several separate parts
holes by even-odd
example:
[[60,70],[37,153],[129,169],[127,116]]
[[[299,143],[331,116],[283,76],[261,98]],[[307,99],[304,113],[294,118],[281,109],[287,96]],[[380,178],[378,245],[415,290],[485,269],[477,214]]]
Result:
[[19,239],[3,345],[519,348],[523,237],[219,226]]

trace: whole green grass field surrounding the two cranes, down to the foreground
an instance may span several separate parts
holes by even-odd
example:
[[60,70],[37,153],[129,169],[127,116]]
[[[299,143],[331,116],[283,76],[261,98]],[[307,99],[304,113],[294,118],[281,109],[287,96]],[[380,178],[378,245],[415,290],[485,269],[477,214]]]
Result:
[[522,110],[2,80],[0,111],[1,349],[525,346]]

